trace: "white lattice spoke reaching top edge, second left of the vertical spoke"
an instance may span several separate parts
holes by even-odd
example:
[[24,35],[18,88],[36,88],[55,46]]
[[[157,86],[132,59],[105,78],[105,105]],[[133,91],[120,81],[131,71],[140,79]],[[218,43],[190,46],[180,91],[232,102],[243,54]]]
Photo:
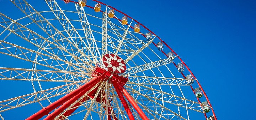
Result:
[[[86,46],[87,50],[89,51],[90,55],[92,56],[93,61],[98,62],[96,56],[94,56],[93,52],[91,51],[91,49],[89,48],[89,46],[87,46],[87,44],[82,40],[80,34],[78,33],[78,31],[75,29],[75,27],[73,26],[73,24],[70,22],[70,20],[67,18],[67,16],[65,15],[64,11],[59,7],[59,5],[57,4],[57,2],[55,0],[51,0],[51,1],[45,1],[46,4],[48,5],[48,7],[50,8],[50,10],[52,11],[52,13],[54,14],[54,16],[56,18],[61,19],[61,24],[63,26],[63,28],[65,30],[69,30],[68,34],[69,36],[73,36],[75,41],[73,39],[71,39],[73,41],[74,44],[77,45],[77,42],[82,41],[82,43],[84,43],[84,45]],[[72,33],[72,34],[70,34]],[[76,37],[78,36],[78,37]]]

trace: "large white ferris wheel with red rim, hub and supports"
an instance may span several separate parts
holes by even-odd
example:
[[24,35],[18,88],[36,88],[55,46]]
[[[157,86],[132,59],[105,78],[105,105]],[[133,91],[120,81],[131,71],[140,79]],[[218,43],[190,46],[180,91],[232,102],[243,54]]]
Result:
[[217,120],[180,56],[127,14],[97,0],[9,2],[0,53],[16,62],[0,67],[1,119]]

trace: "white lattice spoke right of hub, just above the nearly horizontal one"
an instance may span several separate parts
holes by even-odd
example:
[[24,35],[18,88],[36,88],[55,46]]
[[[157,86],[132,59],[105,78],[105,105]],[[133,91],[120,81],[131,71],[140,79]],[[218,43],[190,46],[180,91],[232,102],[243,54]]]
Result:
[[159,60],[159,61],[155,61],[155,62],[146,63],[144,65],[139,65],[139,66],[135,66],[135,67],[132,67],[132,68],[128,68],[126,70],[126,74],[131,75],[131,74],[135,74],[135,73],[138,73],[138,72],[149,70],[149,69],[152,69],[152,68],[155,68],[155,67],[166,65],[166,64],[172,63],[172,60],[174,58],[175,57],[167,58],[167,59],[163,59],[163,60]]

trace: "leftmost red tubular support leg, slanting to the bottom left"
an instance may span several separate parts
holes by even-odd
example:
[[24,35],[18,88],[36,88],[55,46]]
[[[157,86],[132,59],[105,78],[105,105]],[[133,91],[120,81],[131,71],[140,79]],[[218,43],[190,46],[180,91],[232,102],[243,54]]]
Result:
[[28,117],[26,120],[38,120],[38,119],[42,118],[44,115],[49,114],[49,112],[51,112],[55,108],[59,107],[60,105],[62,105],[66,101],[68,101],[69,99],[73,98],[74,96],[76,96],[80,92],[84,91],[84,89],[87,88],[88,86],[91,86],[93,83],[98,83],[104,76],[105,76],[105,73],[102,74],[101,76],[97,76],[97,77],[93,78],[89,82],[87,82],[84,85],[80,86],[78,89],[70,92],[69,94],[67,94],[64,97],[60,98],[59,100],[53,102],[49,106],[39,110],[37,113],[35,113],[32,116]]

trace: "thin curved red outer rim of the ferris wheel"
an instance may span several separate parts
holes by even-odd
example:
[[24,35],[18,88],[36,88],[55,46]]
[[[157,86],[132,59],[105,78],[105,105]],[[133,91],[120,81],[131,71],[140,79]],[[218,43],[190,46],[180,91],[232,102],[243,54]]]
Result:
[[[102,5],[107,5],[107,4],[105,4],[105,3],[103,3],[103,2],[100,2],[100,1],[98,1],[98,0],[92,0],[92,1],[98,2],[98,3],[102,4]],[[74,1],[70,1],[70,2],[74,2]],[[74,3],[78,4],[78,2],[74,2]],[[91,7],[91,6],[88,6],[88,5],[86,5],[86,7],[89,7],[89,8],[94,9],[94,7]],[[119,13],[123,14],[124,16],[127,16],[127,17],[130,18],[130,19],[133,19],[132,17],[130,17],[130,16],[128,16],[127,14],[125,14],[125,13],[123,13],[123,12],[117,10],[116,8],[114,8],[114,7],[112,7],[112,6],[109,6],[109,5],[108,5],[108,7],[110,7],[110,8],[112,8],[112,9],[118,11]],[[103,11],[100,11],[100,12],[103,12]],[[116,17],[114,17],[114,18],[117,19],[117,20],[119,20],[119,21],[121,21],[120,19],[118,19],[118,18],[116,18]],[[139,22],[138,22],[137,20],[135,20],[135,19],[133,19],[133,20],[134,20],[135,22],[137,22],[139,25],[143,26],[143,28],[145,28],[146,30],[148,30],[149,32],[151,32],[153,35],[156,36],[156,34],[155,34],[154,32],[152,32],[151,30],[149,30],[146,26],[144,26],[143,24],[139,23]],[[130,26],[130,27],[131,27],[132,29],[134,29],[132,26]],[[140,32],[139,32],[139,33],[140,33]],[[144,37],[146,37],[144,34],[141,34],[141,35],[143,35]],[[194,79],[196,79],[196,77],[194,76],[194,74],[192,73],[192,71],[190,70],[190,68],[188,68],[188,66],[187,66],[187,65],[185,64],[185,62],[180,58],[180,56],[178,56],[178,54],[176,54],[176,53],[174,52],[174,50],[172,50],[171,47],[168,46],[159,36],[157,36],[157,38],[158,38],[162,43],[164,43],[165,46],[167,46],[167,47],[178,57],[178,59],[180,59],[180,61],[182,62],[182,64],[187,68],[187,70],[191,73],[191,75],[194,77]],[[154,42],[152,42],[152,43],[157,47],[157,45],[156,45]],[[164,53],[164,54],[167,56],[167,54],[166,54],[163,50],[161,50],[161,52]],[[173,64],[177,67],[177,65],[176,65],[174,62],[173,62]],[[181,73],[181,74],[182,74],[182,76],[183,76],[184,78],[186,78],[183,73]],[[202,86],[200,85],[200,83],[198,82],[198,80],[196,80],[196,81],[197,81],[197,84],[198,84],[199,88],[201,88],[201,90],[202,90],[204,96],[206,97],[206,100],[208,101],[210,107],[212,107],[212,104],[210,103],[210,101],[209,101],[209,99],[208,99],[206,93],[204,92]],[[190,86],[191,86],[191,85],[190,85]],[[191,89],[192,89],[192,91],[194,92],[194,89],[193,89],[192,86],[191,86]],[[197,100],[198,100],[199,103],[201,103],[198,98],[197,98]],[[213,113],[213,115],[214,115],[215,120],[217,120],[216,115],[215,115],[214,110],[213,110],[213,107],[212,107],[211,109],[212,109],[212,113]],[[206,119],[207,119],[206,113],[204,113],[204,116],[205,116]]]

